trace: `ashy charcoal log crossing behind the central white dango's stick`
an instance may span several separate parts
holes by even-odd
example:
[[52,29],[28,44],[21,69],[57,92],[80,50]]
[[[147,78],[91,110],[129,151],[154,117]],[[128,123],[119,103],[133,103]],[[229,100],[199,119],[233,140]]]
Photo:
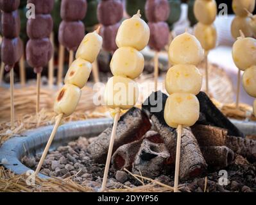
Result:
[[[141,139],[150,128],[151,124],[148,117],[139,108],[132,108],[127,111],[117,124],[113,153],[121,145]],[[96,140],[90,143],[88,152],[92,154],[92,160],[105,163],[111,133],[112,126],[105,129]]]

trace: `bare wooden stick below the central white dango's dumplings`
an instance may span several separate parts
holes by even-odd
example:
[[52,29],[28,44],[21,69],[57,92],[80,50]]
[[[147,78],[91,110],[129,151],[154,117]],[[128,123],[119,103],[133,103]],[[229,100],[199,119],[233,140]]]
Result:
[[114,118],[114,124],[113,124],[110,143],[109,143],[109,147],[108,147],[108,156],[107,156],[106,166],[105,166],[105,170],[104,170],[101,192],[105,191],[106,184],[107,184],[108,170],[109,170],[109,166],[110,166],[110,160],[111,160],[111,156],[112,156],[113,145],[114,145],[115,135],[116,135],[117,122],[118,122],[119,118],[120,118],[120,110],[117,111],[117,113],[115,114],[115,118]]

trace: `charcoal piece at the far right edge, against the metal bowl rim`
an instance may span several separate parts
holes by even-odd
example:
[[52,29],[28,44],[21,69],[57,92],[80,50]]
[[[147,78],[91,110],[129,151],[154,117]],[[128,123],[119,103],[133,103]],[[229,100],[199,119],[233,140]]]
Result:
[[227,136],[226,147],[229,147],[237,154],[241,154],[249,161],[256,161],[256,140]]

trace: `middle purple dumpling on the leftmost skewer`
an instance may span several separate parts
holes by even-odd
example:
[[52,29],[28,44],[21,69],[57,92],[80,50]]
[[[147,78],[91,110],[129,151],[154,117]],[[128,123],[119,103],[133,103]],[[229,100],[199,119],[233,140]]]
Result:
[[2,13],[1,19],[2,35],[6,38],[19,37],[21,30],[21,19],[19,17],[19,11],[15,10],[10,13]]

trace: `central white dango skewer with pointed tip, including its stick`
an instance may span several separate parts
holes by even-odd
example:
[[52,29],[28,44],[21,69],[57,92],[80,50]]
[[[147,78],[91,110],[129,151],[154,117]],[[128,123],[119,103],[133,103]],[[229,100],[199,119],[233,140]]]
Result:
[[[132,108],[139,97],[139,88],[133,79],[139,77],[143,71],[144,57],[139,51],[146,47],[148,40],[149,27],[141,19],[140,10],[132,18],[124,20],[117,31],[115,42],[119,49],[115,51],[110,62],[110,69],[114,76],[108,80],[104,94],[105,103],[114,110],[114,124],[108,147],[101,192],[106,189],[117,122],[121,110]],[[120,89],[121,99],[119,99]]]

